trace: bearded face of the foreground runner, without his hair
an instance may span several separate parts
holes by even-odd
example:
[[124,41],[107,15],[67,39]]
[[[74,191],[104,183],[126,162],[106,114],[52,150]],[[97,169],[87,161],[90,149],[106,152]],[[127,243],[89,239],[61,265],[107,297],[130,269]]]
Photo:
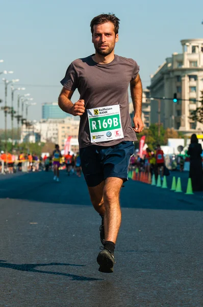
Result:
[[93,30],[92,42],[96,52],[103,56],[109,55],[118,41],[118,34],[115,35],[114,25],[111,22],[95,25]]

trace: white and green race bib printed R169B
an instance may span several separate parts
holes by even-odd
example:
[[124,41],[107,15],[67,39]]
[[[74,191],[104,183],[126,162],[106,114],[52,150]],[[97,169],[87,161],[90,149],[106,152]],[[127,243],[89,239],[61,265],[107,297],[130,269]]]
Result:
[[123,138],[119,104],[87,109],[87,114],[91,143]]

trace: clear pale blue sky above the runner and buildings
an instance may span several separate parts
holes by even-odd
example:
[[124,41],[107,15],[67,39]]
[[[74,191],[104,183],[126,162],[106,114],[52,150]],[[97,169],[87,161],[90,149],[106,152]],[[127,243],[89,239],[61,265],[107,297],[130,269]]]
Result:
[[[5,77],[19,78],[19,86],[26,87],[22,93],[31,93],[37,104],[30,107],[29,119],[41,118],[41,103],[57,101],[59,82],[69,63],[94,53],[90,21],[109,12],[120,19],[115,53],[138,62],[143,87],[150,84],[149,75],[166,57],[182,52],[181,39],[203,37],[202,0],[4,1],[0,18],[0,59],[4,63],[0,63],[0,72],[14,71]],[[0,98],[4,99],[2,77]],[[15,93],[15,108],[16,98]],[[72,101],[77,100],[75,93]],[[10,101],[9,86],[8,104]],[[2,127],[4,116],[0,111]]]

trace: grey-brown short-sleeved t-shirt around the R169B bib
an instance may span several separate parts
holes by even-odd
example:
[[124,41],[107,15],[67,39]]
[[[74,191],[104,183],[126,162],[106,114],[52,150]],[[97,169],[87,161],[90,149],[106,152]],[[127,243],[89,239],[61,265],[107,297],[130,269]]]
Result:
[[135,79],[139,66],[133,59],[115,55],[108,64],[94,62],[92,56],[74,60],[68,67],[61,84],[69,91],[78,89],[80,99],[85,100],[85,108],[103,107],[119,104],[123,129],[122,139],[90,142],[90,128],[87,111],[81,116],[79,127],[80,148],[94,145],[112,146],[122,141],[136,141],[129,114],[128,87]]

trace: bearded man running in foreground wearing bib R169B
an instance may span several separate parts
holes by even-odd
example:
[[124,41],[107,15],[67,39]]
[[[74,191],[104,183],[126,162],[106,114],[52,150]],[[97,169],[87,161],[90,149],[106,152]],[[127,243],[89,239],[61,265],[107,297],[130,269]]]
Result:
[[[80,116],[79,147],[82,171],[94,209],[102,216],[100,239],[104,245],[97,256],[99,271],[113,272],[114,249],[121,223],[119,193],[128,180],[130,157],[134,153],[135,131],[143,129],[141,120],[142,84],[139,66],[133,59],[114,54],[119,19],[102,14],[92,19],[95,54],[74,60],[68,67],[62,92],[61,109]],[[132,128],[128,87],[135,110]],[[75,89],[80,99],[74,104]]]

